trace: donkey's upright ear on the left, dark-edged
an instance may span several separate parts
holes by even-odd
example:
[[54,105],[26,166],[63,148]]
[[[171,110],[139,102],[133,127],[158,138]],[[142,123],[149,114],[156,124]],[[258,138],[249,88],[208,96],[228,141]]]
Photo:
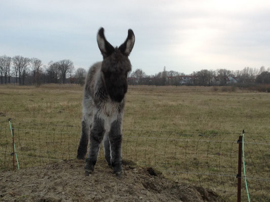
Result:
[[114,47],[106,40],[104,36],[103,27],[101,27],[97,33],[97,44],[103,58],[108,57],[112,54],[112,52],[114,52]]

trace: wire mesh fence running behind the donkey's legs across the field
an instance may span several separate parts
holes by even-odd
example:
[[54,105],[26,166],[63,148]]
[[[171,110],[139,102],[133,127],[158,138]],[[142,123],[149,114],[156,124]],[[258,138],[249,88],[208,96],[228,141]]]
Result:
[[[16,120],[12,125],[20,168],[76,157],[79,126]],[[123,130],[123,133],[123,159],[153,167],[179,182],[208,187],[226,201],[236,200],[237,140],[241,133],[145,130]],[[0,139],[0,169],[12,170],[12,138],[7,120],[0,120]],[[99,158],[103,158],[102,149]],[[270,201],[269,134],[245,134],[245,165],[251,200]],[[247,200],[244,186],[242,199]]]

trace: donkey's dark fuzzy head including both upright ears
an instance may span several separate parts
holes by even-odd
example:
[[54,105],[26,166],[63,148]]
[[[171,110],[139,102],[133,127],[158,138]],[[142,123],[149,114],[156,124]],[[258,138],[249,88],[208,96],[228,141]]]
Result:
[[104,29],[100,28],[97,34],[98,47],[103,56],[101,72],[103,80],[113,101],[121,102],[128,90],[127,76],[131,71],[131,64],[128,59],[135,42],[135,36],[131,29],[128,30],[128,37],[120,47],[113,47],[104,36]]

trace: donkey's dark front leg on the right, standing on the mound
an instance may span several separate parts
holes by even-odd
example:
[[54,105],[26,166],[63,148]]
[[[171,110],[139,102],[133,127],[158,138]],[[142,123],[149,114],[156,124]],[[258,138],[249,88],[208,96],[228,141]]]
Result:
[[117,119],[111,123],[109,131],[109,141],[111,150],[111,166],[113,172],[118,176],[122,176],[122,133],[121,133],[122,120]]

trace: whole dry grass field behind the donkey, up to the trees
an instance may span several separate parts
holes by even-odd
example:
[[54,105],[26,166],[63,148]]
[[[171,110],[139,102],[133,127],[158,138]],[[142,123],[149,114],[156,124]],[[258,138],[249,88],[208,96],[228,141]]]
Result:
[[[74,158],[82,96],[80,85],[0,85],[0,122],[13,119],[22,168],[47,163],[38,158]],[[123,158],[163,170],[174,180],[213,188],[234,201],[236,142],[243,129],[248,176],[270,179],[269,120],[270,93],[235,87],[129,86]],[[0,166],[10,169],[6,161],[11,157],[3,161],[4,152],[12,148],[5,127],[0,130]],[[250,180],[254,201],[270,200],[267,184]]]

